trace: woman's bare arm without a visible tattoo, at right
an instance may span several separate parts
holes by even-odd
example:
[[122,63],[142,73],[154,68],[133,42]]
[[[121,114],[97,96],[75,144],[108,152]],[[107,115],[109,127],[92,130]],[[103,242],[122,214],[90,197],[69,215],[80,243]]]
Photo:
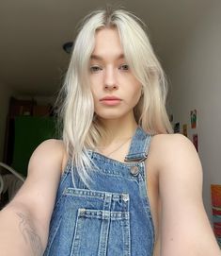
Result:
[[158,135],[161,256],[220,256],[202,202],[202,168],[180,134]]

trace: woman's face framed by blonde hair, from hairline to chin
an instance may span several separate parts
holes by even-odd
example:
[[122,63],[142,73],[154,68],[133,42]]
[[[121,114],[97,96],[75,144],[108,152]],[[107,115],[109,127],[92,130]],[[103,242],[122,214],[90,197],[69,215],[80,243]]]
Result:
[[101,119],[134,118],[141,84],[127,64],[116,28],[103,28],[95,35],[89,63],[95,112]]

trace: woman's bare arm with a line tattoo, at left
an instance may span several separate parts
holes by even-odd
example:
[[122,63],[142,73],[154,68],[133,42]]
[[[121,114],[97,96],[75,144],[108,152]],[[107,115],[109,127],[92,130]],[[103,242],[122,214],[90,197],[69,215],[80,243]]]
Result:
[[63,152],[61,142],[49,140],[39,145],[33,153],[24,185],[0,212],[1,256],[43,254]]

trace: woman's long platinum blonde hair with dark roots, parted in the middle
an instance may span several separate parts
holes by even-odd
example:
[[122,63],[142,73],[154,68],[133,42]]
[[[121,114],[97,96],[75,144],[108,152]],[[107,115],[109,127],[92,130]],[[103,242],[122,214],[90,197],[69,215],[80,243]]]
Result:
[[166,114],[167,84],[164,71],[157,60],[145,25],[133,13],[124,9],[101,9],[83,20],[71,53],[65,77],[60,107],[63,141],[69,157],[77,166],[81,179],[87,184],[91,161],[87,149],[95,148],[105,130],[95,118],[93,97],[88,80],[88,63],[95,46],[98,29],[115,27],[134,76],[142,84],[143,94],[134,108],[137,124],[150,134],[172,133]]

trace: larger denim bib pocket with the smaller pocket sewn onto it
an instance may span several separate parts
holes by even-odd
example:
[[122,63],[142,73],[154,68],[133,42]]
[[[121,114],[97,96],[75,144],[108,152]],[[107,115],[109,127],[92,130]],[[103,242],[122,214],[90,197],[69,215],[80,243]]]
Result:
[[126,193],[66,188],[45,255],[131,256],[129,201]]

